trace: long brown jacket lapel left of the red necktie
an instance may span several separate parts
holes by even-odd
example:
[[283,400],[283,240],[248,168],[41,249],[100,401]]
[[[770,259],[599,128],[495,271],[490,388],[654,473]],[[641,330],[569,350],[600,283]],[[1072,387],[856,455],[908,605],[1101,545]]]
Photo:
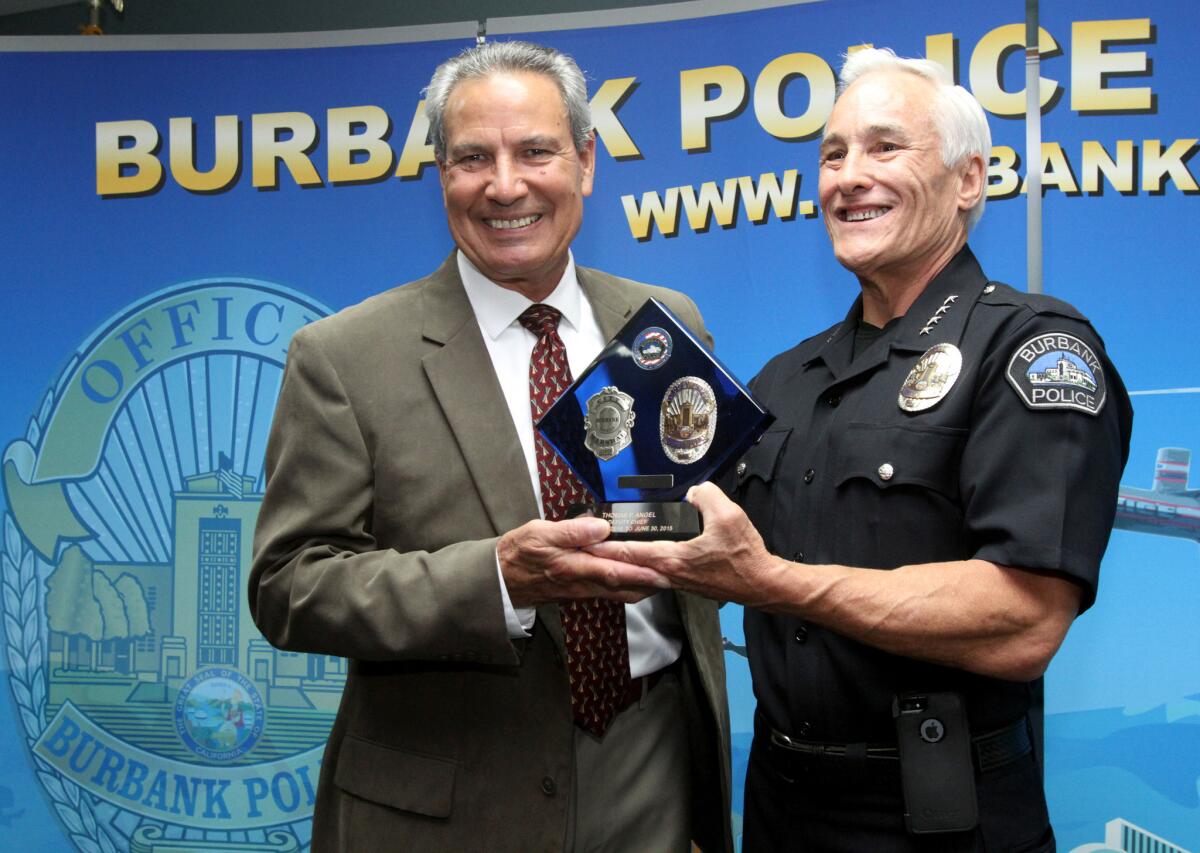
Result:
[[425,374],[492,527],[502,534],[536,518],[524,453],[454,254],[430,276],[422,323],[424,336],[442,344],[421,360]]

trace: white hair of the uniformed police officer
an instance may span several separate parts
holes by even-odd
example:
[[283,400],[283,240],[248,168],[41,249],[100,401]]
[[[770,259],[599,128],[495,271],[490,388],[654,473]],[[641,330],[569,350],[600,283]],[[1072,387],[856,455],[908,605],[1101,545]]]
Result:
[[[953,168],[971,155],[983,157],[984,166],[991,156],[991,130],[988,116],[974,95],[954,80],[937,62],[928,59],[904,59],[896,56],[890,48],[864,48],[846,56],[841,66],[838,97],[851,83],[874,71],[904,71],[923,77],[937,88],[937,96],[931,104],[937,136],[942,140],[942,161],[947,168]],[[988,198],[988,188],[979,194],[979,200],[967,211],[967,230],[974,227],[983,216],[983,204]]]

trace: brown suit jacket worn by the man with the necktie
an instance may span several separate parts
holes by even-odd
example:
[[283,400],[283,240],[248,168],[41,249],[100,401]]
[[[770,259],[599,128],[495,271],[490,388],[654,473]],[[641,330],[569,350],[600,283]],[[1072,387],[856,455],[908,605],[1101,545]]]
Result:
[[[578,268],[607,336],[649,296]],[[454,256],[300,330],[266,451],[250,609],[281,649],[350,659],[320,771],[314,851],[559,851],[574,727],[558,608],[511,641],[500,534],[538,517]],[[732,849],[716,607],[678,594],[691,691],[694,837]],[[683,780],[680,780],[683,782]]]

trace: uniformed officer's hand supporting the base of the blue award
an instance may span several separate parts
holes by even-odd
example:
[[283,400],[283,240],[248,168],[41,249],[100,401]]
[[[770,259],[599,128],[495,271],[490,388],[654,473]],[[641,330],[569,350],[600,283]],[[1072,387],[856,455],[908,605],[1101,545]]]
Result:
[[710,482],[688,491],[704,531],[686,542],[598,542],[596,557],[653,569],[676,589],[716,601],[763,607],[775,600],[772,579],[780,569],[742,507]]

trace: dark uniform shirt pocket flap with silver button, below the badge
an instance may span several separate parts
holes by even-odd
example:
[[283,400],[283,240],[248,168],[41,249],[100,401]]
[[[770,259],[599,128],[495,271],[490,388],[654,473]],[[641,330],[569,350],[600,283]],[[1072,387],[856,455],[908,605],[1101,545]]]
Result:
[[966,438],[966,429],[949,427],[851,424],[841,435],[838,485],[860,479],[882,489],[920,486],[958,499]]

